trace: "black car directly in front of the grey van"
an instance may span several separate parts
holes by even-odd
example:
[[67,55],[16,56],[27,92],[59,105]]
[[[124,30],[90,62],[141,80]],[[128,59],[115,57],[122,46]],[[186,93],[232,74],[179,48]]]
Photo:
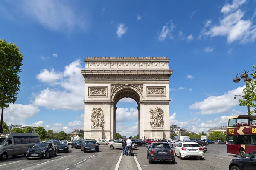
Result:
[[50,156],[57,156],[57,146],[53,143],[36,143],[30,147],[26,153],[27,159],[32,158],[49,158]]

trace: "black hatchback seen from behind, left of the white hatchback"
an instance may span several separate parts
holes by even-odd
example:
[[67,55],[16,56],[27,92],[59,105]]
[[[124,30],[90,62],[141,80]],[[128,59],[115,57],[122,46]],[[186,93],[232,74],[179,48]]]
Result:
[[174,152],[168,143],[152,142],[146,148],[148,163],[151,164],[153,161],[169,161],[171,164],[175,164]]

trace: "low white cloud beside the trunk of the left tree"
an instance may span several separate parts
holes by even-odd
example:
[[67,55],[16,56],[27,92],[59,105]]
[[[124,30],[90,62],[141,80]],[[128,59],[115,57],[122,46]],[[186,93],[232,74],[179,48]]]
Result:
[[40,109],[34,105],[9,104],[4,109],[3,120],[7,124],[25,124],[25,120],[34,117]]

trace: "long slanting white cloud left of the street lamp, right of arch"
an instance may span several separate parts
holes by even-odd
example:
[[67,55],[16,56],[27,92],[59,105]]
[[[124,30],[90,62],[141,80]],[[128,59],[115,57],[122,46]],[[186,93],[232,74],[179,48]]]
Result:
[[[234,90],[228,91],[221,96],[210,96],[204,101],[195,102],[190,105],[190,109],[199,109],[198,114],[215,114],[215,113],[226,113],[235,105],[238,105],[238,99],[234,99],[234,95],[242,95],[242,90],[245,88],[238,87]],[[237,97],[239,98],[239,96]]]

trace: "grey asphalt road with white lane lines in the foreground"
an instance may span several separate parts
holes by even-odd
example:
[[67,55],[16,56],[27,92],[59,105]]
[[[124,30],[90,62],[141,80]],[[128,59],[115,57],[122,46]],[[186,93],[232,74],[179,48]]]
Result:
[[227,153],[225,144],[209,144],[203,161],[175,157],[175,164],[149,164],[145,147],[138,147],[134,153],[135,156],[122,156],[122,150],[110,150],[105,145],[100,145],[100,152],[96,153],[70,148],[69,153],[58,153],[58,156],[49,159],[9,157],[6,161],[0,161],[0,170],[228,170],[230,159],[235,157]]

